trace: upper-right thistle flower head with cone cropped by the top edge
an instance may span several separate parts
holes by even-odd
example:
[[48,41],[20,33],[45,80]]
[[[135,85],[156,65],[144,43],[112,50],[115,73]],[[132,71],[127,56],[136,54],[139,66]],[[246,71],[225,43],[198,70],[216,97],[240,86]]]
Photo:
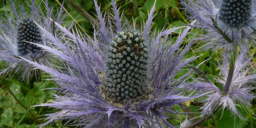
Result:
[[205,48],[226,46],[233,49],[238,43],[247,52],[255,43],[255,0],[181,0],[188,17],[197,20],[194,27],[207,30],[200,39],[208,41]]

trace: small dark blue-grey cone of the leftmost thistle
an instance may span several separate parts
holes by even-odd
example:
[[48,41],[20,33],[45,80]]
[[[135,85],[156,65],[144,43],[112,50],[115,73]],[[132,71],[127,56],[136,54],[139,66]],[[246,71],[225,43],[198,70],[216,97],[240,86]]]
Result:
[[39,27],[31,18],[22,19],[18,25],[17,45],[20,54],[37,53],[41,50],[40,47],[29,43],[42,44],[42,34]]

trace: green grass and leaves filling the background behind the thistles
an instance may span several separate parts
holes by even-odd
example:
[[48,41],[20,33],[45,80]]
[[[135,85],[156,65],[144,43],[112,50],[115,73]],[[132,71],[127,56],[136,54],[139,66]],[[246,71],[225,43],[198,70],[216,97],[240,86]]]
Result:
[[[54,11],[57,11],[57,8],[60,7],[59,3],[62,3],[64,0],[48,0],[49,5],[54,6]],[[23,3],[25,8],[28,7],[28,3],[30,0],[23,0],[23,1],[15,1],[15,7],[17,11],[19,11],[19,6]],[[95,19],[97,17],[95,16],[95,8],[93,4],[93,0],[74,0],[76,4],[78,4],[81,8],[83,8],[86,12],[88,12],[90,15],[92,15]],[[98,4],[101,4],[101,10],[104,13],[105,11],[112,12],[110,0],[97,0]],[[138,4],[138,10],[139,10],[139,16],[135,15],[134,12],[134,6],[133,6],[133,0],[116,0],[117,7],[120,7],[120,11],[124,13],[124,16],[129,19],[129,22],[132,22],[132,18],[135,18],[135,20],[139,23],[142,21],[145,21],[148,15],[148,11],[150,11],[151,7],[154,4],[154,0],[137,0]],[[39,4],[40,2],[38,2]],[[42,9],[44,9],[43,5]],[[65,26],[70,25],[70,23],[73,21],[74,18],[76,18],[76,25],[80,30],[83,30],[87,32],[88,34],[92,35],[93,27],[90,23],[90,21],[83,18],[83,16],[80,15],[79,12],[77,12],[74,8],[72,8],[68,2],[64,2],[64,6],[67,9],[67,14],[65,18]],[[188,23],[189,21],[186,21],[186,16],[182,14],[181,9],[179,9],[181,5],[179,4],[178,0],[157,0],[156,1],[156,11],[155,11],[155,17],[153,19],[153,28],[156,29],[162,29],[163,27],[173,27],[173,26],[184,26],[184,23]],[[11,4],[8,0],[2,0],[0,2],[0,15],[5,14],[5,10],[10,16],[14,16],[11,10]],[[107,15],[106,15],[107,16]],[[106,17],[107,18],[107,17]],[[1,19],[0,19],[1,20]],[[138,24],[136,27],[139,27]],[[176,32],[178,34],[179,32]],[[193,33],[202,33],[200,30],[193,29],[191,31],[191,34],[187,36],[187,39],[191,39],[195,36]],[[176,35],[173,36],[173,39],[175,40]],[[186,43],[186,42],[184,42]],[[196,59],[191,65],[197,66],[199,63],[202,63],[205,60],[208,60],[210,58],[210,55],[212,54],[210,51],[204,51],[204,52],[195,52],[193,49],[196,49],[200,46],[197,44],[192,46],[191,50],[187,53],[187,56],[198,56],[200,57]],[[251,52],[253,53],[256,49],[252,48]],[[214,78],[220,76],[220,70],[215,66],[217,65],[216,59],[220,52],[215,53],[211,59],[211,61],[204,62],[199,68],[214,82]],[[255,59],[253,59],[253,62],[256,62]],[[0,68],[5,68],[6,63],[0,61]],[[12,79],[9,79],[9,76],[14,76]],[[13,74],[9,73],[6,76],[1,76],[2,80],[0,81],[0,128],[34,128],[38,126],[40,123],[45,122],[45,120],[36,121],[36,118],[43,119],[46,116],[43,116],[47,113],[53,113],[57,112],[58,110],[53,110],[51,108],[46,107],[31,107],[34,105],[39,105],[41,103],[48,103],[49,100],[52,99],[52,95],[55,94],[56,91],[53,90],[41,90],[44,88],[51,88],[56,87],[56,85],[49,80],[43,80],[47,79],[47,74],[42,74],[42,78],[38,78],[38,81],[35,81],[35,78],[30,80],[23,80],[20,79],[20,74]],[[183,75],[182,72],[178,74],[180,76]],[[216,83],[218,85],[218,83]],[[15,94],[17,99],[25,105],[26,109],[22,107],[11,94],[6,89],[6,86],[8,86],[12,92]],[[220,86],[220,85],[219,85]],[[253,90],[255,92],[255,90]],[[191,112],[199,113],[201,104],[198,104],[197,102],[188,101],[187,103],[187,110]],[[225,110],[222,114],[222,111],[219,110],[215,114],[215,118],[212,118],[205,123],[203,123],[201,126],[198,126],[198,128],[255,128],[256,127],[256,117],[254,116],[256,108],[256,100],[254,99],[252,101],[251,106],[251,112],[246,113],[244,111],[241,111],[242,115],[247,120],[240,120],[238,117],[234,118],[234,116],[231,115],[229,110]],[[178,108],[177,108],[178,109]],[[31,113],[32,112],[35,116],[33,117]],[[193,114],[189,116],[198,116],[200,114]],[[186,119],[186,115],[170,115],[170,117],[177,117],[178,119],[181,118],[181,120]],[[180,123],[180,120],[177,119],[169,119],[168,121],[176,124]],[[51,125],[48,125],[49,128],[62,128],[64,121],[57,121],[52,123]],[[69,128],[69,127],[65,127]],[[70,127],[71,128],[71,127]]]

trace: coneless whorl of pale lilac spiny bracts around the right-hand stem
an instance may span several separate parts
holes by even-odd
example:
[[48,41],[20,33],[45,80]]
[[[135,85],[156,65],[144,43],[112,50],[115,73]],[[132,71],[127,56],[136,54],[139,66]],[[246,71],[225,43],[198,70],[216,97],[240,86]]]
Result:
[[[202,102],[205,104],[201,107],[202,115],[212,114],[213,111],[219,107],[223,107],[223,111],[225,108],[229,108],[230,111],[234,115],[238,115],[240,119],[244,119],[244,117],[237,110],[235,104],[240,105],[244,110],[250,110],[251,101],[254,99],[255,95],[251,92],[251,90],[255,89],[254,83],[256,81],[256,73],[252,70],[253,66],[251,65],[251,59],[246,58],[243,53],[235,56],[237,58],[234,67],[234,74],[231,78],[231,83],[229,88],[225,89],[225,83],[228,80],[229,74],[229,61],[233,58],[228,54],[224,54],[223,58],[223,66],[219,62],[222,78],[218,78],[217,82],[221,83],[223,86],[223,90],[221,91],[218,87],[216,87],[213,83],[210,82],[200,82],[197,81],[194,84],[192,89],[197,89],[201,93],[208,92],[208,97],[205,98]],[[229,67],[229,68],[228,68]]]

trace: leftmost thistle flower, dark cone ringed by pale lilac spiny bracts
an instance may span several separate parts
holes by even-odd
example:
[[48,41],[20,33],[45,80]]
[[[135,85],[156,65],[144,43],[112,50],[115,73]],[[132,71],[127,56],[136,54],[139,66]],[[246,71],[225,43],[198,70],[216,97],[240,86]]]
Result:
[[[35,5],[36,2],[34,0],[29,5],[31,7],[30,12],[26,12],[21,5],[20,13],[16,11],[13,1],[10,0],[10,2],[14,18],[9,17],[6,12],[0,20],[0,60],[4,60],[8,65],[7,68],[1,70],[0,74],[12,71],[15,73],[22,72],[22,79],[29,78],[30,73],[36,74],[38,71],[33,70],[33,72],[30,72],[31,65],[22,58],[41,63],[46,63],[48,59],[47,52],[42,51],[39,46],[33,44],[46,45],[46,40],[48,40],[43,36],[38,26],[44,26],[48,32],[55,34],[58,34],[58,30],[53,32],[55,28],[52,28],[53,22],[49,19],[53,16],[52,8],[48,7],[47,0],[44,2],[47,11],[46,15],[42,12],[40,6],[37,7]],[[62,23],[62,8],[60,8],[58,15],[55,16],[57,17],[56,23]]]

